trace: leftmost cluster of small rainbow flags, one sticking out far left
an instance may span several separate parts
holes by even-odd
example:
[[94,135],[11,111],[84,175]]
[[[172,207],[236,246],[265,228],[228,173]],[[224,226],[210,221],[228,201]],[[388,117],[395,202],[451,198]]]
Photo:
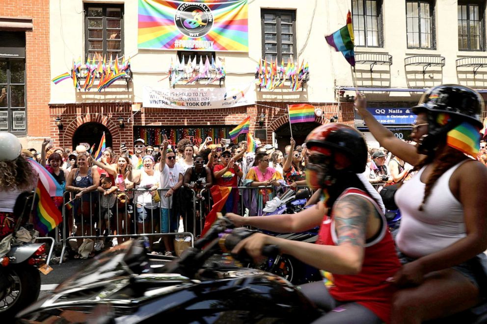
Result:
[[[96,55],[95,55],[96,56]],[[98,56],[86,60],[85,64],[81,63],[81,57],[73,61],[71,73],[66,72],[54,77],[51,81],[58,84],[61,81],[71,78],[75,89],[89,91],[92,88],[99,92],[108,88],[116,80],[121,78],[130,78],[130,58],[125,60],[125,56],[118,55],[107,60],[106,56]],[[98,83],[95,87],[95,80]]]

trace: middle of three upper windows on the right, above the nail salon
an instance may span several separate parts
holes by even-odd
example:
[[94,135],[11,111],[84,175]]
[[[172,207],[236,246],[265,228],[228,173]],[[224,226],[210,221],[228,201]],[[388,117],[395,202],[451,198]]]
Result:
[[406,1],[407,48],[434,49],[433,3]]

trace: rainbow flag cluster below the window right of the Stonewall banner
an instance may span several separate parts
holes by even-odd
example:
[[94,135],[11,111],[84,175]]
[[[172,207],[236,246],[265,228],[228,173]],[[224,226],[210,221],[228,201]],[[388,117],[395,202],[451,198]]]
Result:
[[270,91],[283,88],[285,82],[289,83],[289,86],[286,87],[293,91],[298,91],[299,88],[304,88],[304,83],[308,80],[309,66],[308,62],[304,63],[304,60],[301,61],[301,64],[297,63],[296,65],[289,59],[287,64],[284,65],[284,60],[282,60],[279,66],[277,58],[274,62],[271,61],[270,63],[267,62],[267,58],[264,61],[261,59],[255,72],[255,83],[260,88],[265,88]]

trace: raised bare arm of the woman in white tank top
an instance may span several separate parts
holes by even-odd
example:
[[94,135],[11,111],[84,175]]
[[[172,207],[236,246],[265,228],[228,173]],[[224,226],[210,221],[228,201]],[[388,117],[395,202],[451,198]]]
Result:
[[367,100],[363,94],[357,94],[355,99],[355,110],[362,116],[364,123],[369,127],[369,131],[379,141],[380,146],[394,153],[401,160],[411,165],[418,164],[424,158],[416,148],[406,142],[401,141],[394,134],[381,125],[372,114],[367,110]]

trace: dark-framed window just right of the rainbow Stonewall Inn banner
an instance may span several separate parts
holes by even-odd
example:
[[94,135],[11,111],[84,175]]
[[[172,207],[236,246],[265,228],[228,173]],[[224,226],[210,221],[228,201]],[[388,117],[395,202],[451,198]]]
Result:
[[286,63],[296,58],[296,12],[262,10],[262,56],[268,62]]

